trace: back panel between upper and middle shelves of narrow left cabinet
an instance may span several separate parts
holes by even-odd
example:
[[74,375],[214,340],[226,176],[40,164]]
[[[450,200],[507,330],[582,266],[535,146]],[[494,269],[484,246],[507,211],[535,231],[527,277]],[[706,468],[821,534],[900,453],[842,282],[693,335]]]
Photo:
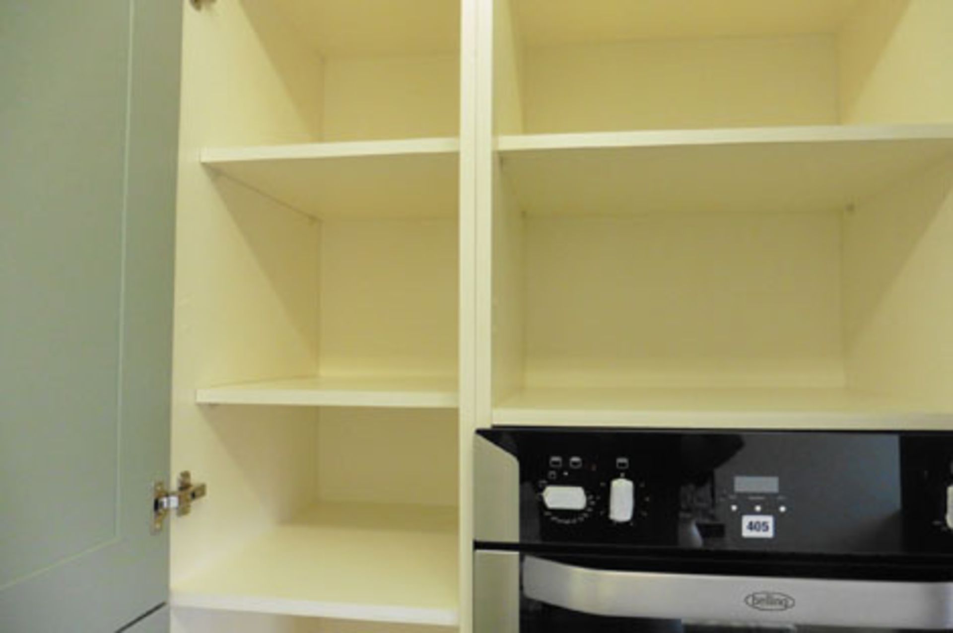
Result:
[[328,220],[323,376],[456,376],[457,223]]

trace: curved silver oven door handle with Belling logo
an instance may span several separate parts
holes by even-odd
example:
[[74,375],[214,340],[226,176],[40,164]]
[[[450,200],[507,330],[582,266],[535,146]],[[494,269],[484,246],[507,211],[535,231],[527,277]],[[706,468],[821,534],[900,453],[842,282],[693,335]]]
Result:
[[953,582],[609,571],[527,556],[522,586],[527,598],[617,618],[953,629]]

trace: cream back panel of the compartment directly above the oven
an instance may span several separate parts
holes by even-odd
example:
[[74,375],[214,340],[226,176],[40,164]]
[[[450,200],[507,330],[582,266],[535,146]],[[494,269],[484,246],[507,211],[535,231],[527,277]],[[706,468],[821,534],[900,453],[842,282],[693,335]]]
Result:
[[839,214],[525,222],[527,386],[842,385]]

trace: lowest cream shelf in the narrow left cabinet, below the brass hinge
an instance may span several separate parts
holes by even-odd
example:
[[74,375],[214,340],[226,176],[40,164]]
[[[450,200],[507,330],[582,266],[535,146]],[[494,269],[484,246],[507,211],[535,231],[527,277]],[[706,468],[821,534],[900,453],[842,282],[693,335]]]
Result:
[[388,623],[457,623],[456,508],[315,506],[172,585],[172,604]]

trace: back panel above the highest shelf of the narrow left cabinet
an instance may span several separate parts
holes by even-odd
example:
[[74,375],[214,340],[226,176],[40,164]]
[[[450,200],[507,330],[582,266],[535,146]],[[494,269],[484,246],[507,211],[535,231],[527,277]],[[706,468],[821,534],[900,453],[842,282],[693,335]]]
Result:
[[326,141],[456,136],[456,54],[329,57],[324,71]]

